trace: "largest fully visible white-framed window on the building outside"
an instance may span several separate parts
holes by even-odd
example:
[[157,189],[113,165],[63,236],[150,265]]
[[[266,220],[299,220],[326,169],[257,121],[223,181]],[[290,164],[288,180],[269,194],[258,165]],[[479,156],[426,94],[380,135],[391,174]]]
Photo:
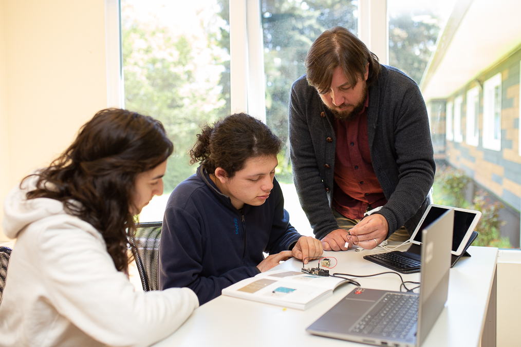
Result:
[[483,83],[483,148],[501,150],[501,73]]

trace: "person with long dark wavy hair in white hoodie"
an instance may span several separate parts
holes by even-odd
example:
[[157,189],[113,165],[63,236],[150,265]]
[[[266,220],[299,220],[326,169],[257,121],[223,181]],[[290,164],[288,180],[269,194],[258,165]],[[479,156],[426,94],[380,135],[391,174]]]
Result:
[[127,275],[127,230],[163,193],[172,151],[159,121],[106,109],[48,168],[11,190],[3,226],[17,242],[0,305],[1,346],[146,346],[190,316],[198,305],[192,290],[138,292]]

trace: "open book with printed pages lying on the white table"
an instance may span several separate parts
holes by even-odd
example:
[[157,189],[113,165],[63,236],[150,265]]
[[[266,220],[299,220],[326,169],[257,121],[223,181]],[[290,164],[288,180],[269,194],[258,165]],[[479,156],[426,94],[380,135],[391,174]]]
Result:
[[246,278],[222,290],[229,297],[305,310],[333,294],[345,279],[277,270]]

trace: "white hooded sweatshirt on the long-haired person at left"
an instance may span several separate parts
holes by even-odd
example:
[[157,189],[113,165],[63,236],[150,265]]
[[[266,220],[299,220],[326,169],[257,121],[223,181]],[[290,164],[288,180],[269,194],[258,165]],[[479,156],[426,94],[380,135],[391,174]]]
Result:
[[91,224],[57,200],[26,199],[35,181],[5,201],[3,227],[18,240],[0,303],[0,346],[147,346],[199,306],[188,288],[134,291]]

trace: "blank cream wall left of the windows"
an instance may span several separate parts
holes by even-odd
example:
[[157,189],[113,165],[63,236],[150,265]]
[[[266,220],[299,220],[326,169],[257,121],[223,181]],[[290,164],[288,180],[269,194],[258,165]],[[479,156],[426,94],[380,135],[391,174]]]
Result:
[[104,0],[0,0],[0,218],[7,192],[106,108],[106,85]]

